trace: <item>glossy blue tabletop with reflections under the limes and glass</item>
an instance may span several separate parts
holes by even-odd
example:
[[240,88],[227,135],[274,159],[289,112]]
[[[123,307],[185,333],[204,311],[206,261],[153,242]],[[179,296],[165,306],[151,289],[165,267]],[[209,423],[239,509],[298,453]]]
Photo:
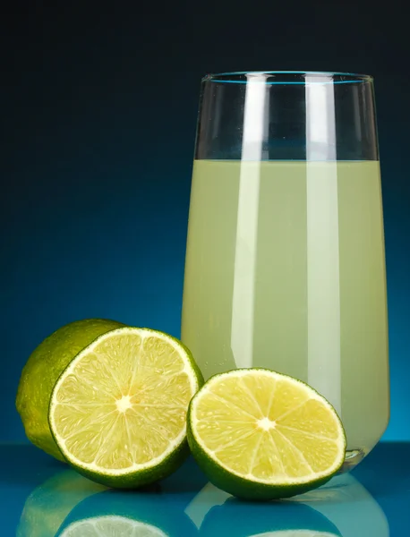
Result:
[[29,445],[0,444],[0,535],[407,537],[410,443],[380,443],[352,473],[292,500],[216,489],[192,459],[147,490],[108,490]]

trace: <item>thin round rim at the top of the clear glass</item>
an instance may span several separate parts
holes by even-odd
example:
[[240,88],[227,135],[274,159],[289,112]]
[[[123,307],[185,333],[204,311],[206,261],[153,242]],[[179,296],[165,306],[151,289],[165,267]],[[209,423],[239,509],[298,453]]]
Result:
[[[347,83],[360,83],[360,82],[372,82],[373,77],[370,74],[360,74],[355,72],[332,72],[332,71],[234,71],[234,72],[217,72],[209,73],[202,78],[202,82],[218,82],[218,83],[235,83],[246,84],[249,82],[248,77],[256,77],[257,75],[265,75],[266,80],[263,81],[266,84],[305,84],[305,80],[281,80],[281,81],[269,81],[269,77],[274,78],[276,75],[290,76],[294,79],[303,79],[303,77],[317,77],[318,79],[327,77],[336,80],[320,81],[317,82],[326,83],[333,82],[335,84],[347,84]],[[293,75],[293,76],[292,76]],[[312,81],[314,83],[314,81]],[[309,83],[309,82],[308,82]]]

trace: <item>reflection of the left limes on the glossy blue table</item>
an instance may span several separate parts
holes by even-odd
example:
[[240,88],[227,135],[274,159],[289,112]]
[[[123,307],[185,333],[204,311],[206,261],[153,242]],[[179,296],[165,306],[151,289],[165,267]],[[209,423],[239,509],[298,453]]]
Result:
[[198,531],[169,495],[154,487],[109,490],[72,470],[26,500],[17,537],[193,537]]

